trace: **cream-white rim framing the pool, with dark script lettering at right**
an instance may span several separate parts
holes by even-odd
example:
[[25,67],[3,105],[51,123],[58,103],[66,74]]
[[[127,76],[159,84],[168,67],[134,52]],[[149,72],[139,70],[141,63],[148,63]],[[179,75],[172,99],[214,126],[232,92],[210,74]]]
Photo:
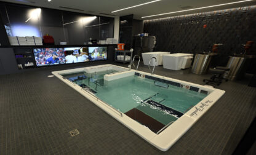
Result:
[[[189,111],[187,111],[185,114],[183,114],[182,117],[178,118],[177,121],[169,125],[166,129],[164,129],[161,133],[156,134],[152,132],[148,127],[145,127],[142,124],[139,124],[137,121],[134,119],[130,118],[129,116],[126,116],[126,114],[122,113],[119,111],[116,111],[114,108],[112,108],[110,105],[104,103],[102,100],[99,100],[97,97],[95,97],[94,94],[89,93],[81,89],[81,87],[77,84],[74,84],[73,82],[68,81],[68,79],[63,78],[61,74],[68,74],[68,73],[78,73],[81,71],[89,71],[89,70],[98,70],[98,68],[119,68],[121,71],[120,73],[114,73],[111,74],[113,76],[113,79],[122,78],[124,76],[130,76],[132,74],[138,73],[140,75],[147,75],[151,76],[154,78],[159,78],[159,79],[164,79],[167,81],[172,81],[172,82],[178,82],[182,85],[185,85],[188,87],[196,87],[199,88],[200,90],[204,90],[208,92],[207,97],[205,97],[203,100],[201,100],[197,105],[193,106]],[[126,70],[126,71],[124,71]],[[159,76],[156,74],[151,75],[150,73],[145,73],[143,71],[136,71],[136,70],[128,70],[127,68],[121,67],[121,66],[116,66],[116,65],[98,65],[98,66],[90,66],[90,67],[85,67],[85,68],[76,68],[76,69],[71,69],[71,70],[62,70],[62,71],[53,71],[52,74],[56,76],[58,79],[62,80],[66,84],[68,84],[70,87],[72,87],[74,90],[77,92],[81,93],[84,97],[88,98],[90,101],[92,101],[95,105],[103,109],[106,113],[110,114],[113,116],[116,120],[121,122],[122,124],[126,125],[130,130],[134,131],[137,133],[140,137],[151,143],[151,145],[155,146],[156,148],[160,149],[161,151],[167,151],[174,143],[182,137],[183,134],[186,133],[188,129],[192,127],[196,121],[206,111],[216,103],[216,101],[222,97],[222,95],[225,93],[224,90],[220,89],[214,89],[212,87],[207,87],[204,85],[199,85],[199,84],[193,84],[191,82],[186,82],[186,81],[181,81],[178,79],[172,79],[172,78],[167,78],[164,76]],[[111,77],[109,76],[111,79]],[[105,80],[107,78],[104,77]],[[186,89],[186,88],[184,88]],[[122,116],[121,116],[122,115]],[[118,135],[117,135],[118,136]]]

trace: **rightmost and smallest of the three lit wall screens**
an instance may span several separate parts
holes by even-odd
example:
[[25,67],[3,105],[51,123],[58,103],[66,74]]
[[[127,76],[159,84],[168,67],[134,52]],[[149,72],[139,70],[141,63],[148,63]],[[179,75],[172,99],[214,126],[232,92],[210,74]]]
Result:
[[89,47],[89,60],[106,60],[107,53],[107,47]]

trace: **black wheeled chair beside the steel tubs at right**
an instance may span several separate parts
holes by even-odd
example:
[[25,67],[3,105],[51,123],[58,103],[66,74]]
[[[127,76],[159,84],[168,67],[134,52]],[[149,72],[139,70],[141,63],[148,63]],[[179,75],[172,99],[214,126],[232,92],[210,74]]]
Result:
[[[209,68],[208,73],[212,73],[214,75],[210,77],[210,79],[204,79],[203,82],[206,82],[206,84],[215,83],[217,85],[220,85],[222,83],[222,80],[225,79],[223,78],[223,74],[229,70],[230,69],[225,66],[217,66],[215,68]],[[228,79],[225,79],[225,81],[228,81]]]

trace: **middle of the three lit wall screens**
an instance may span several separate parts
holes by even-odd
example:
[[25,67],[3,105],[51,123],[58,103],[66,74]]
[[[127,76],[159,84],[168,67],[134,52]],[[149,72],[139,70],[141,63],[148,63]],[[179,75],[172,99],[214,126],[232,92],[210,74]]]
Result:
[[66,63],[89,62],[88,47],[66,47]]

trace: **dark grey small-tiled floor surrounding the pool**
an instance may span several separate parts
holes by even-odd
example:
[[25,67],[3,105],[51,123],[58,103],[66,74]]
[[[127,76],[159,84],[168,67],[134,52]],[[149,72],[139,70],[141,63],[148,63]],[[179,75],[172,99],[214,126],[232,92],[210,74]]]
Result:
[[[256,88],[248,80],[223,82],[218,89],[225,95],[163,153],[59,79],[47,78],[82,66],[88,64],[0,76],[0,154],[231,154],[256,116]],[[143,65],[139,70],[149,72]],[[155,73],[197,84],[210,77],[161,66]],[[71,137],[74,129],[79,135]]]

